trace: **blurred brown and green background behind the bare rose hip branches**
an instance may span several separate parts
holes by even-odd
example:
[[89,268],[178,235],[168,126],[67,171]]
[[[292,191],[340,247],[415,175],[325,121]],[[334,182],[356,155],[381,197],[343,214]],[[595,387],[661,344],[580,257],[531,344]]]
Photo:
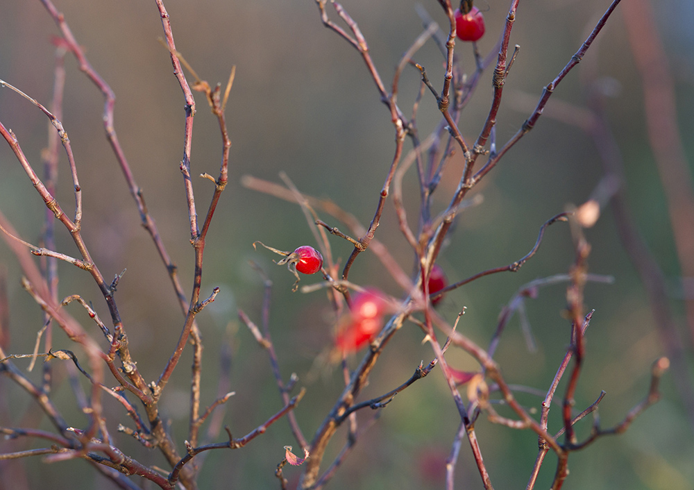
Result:
[[[172,75],[169,54],[158,42],[162,26],[154,2],[60,0],[78,42],[85,47],[94,68],[117,95],[115,126],[137,183],[144,190],[149,210],[162,239],[180,269],[183,285],[192,284],[192,250],[185,196],[178,164],[183,152],[183,96]],[[371,55],[385,83],[416,36],[421,21],[416,2],[346,0],[344,7],[358,22]],[[440,24],[445,22],[435,1],[423,6]],[[508,2],[480,2],[487,34],[480,41],[486,55],[496,43],[507,14]],[[496,127],[498,142],[505,142],[521,126],[534,107],[542,87],[564,67],[598,17],[607,8],[602,0],[540,0],[521,2],[511,43],[521,53],[506,84],[506,99]],[[232,65],[236,78],[227,109],[232,149],[230,185],[224,192],[208,237],[203,276],[203,296],[214,286],[221,293],[198,321],[205,341],[203,405],[217,396],[219,353],[232,349],[231,389],[224,423],[236,437],[250,432],[281,406],[269,362],[248,330],[237,321],[241,307],[260,321],[262,282],[249,260],[261,264],[274,282],[271,331],[278,347],[285,378],[297,373],[299,385],[308,391],[296,416],[311,437],[341,392],[341,374],[330,366],[316,368],[316,355],[330,346],[334,318],[322,293],[291,293],[293,276],[275,267],[271,254],[254,251],[255,240],[292,250],[314,244],[301,209],[277,198],[245,189],[239,180],[246,174],[279,182],[285,171],[303,192],[330,198],[366,224],[373,216],[378,192],[393,153],[393,127],[389,112],[378,99],[373,82],[358,53],[321,24],[312,0],[228,2],[169,1],[167,9],[176,46],[201,78],[211,84],[226,83]],[[688,0],[657,3],[652,22],[666,46],[677,90],[679,129],[689,161],[694,158],[694,34],[687,19],[694,15]],[[337,20],[335,13],[330,15]],[[54,50],[51,35],[58,30],[39,1],[0,0],[0,78],[48,105],[53,86]],[[462,45],[461,45],[462,44]],[[472,50],[459,43],[457,52],[468,73],[473,70]],[[434,86],[441,85],[442,59],[428,43],[416,56],[425,65]],[[691,358],[691,338],[684,327],[679,265],[663,189],[645,137],[643,92],[629,49],[620,8],[600,35],[584,63],[613,87],[607,115],[627,167],[627,198],[646,242],[672,285],[672,307],[682,326],[681,335]],[[94,260],[107,278],[127,269],[117,292],[133,356],[147,380],[158,377],[183,323],[167,273],[139,216],[116,160],[103,135],[103,99],[81,74],[73,58],[66,62],[64,117],[62,119],[78,163],[84,199],[83,235]],[[579,67],[560,85],[550,101],[585,104]],[[405,71],[398,102],[408,114],[418,90],[418,72]],[[192,78],[189,77],[192,81]],[[202,94],[196,94],[192,174],[216,175],[221,141],[215,119]],[[487,71],[461,118],[468,141],[479,131],[491,100],[491,71]],[[528,101],[531,101],[530,103]],[[418,117],[421,134],[429,133],[439,115],[426,94]],[[10,92],[0,91],[0,121],[12,128],[33,162],[40,168],[46,146],[47,121],[37,109]],[[462,160],[452,160],[446,178],[435,194],[437,210],[448,203],[459,178]],[[691,166],[691,163],[690,163]],[[691,168],[691,167],[690,167]],[[61,157],[58,200],[69,210],[74,202],[65,158]],[[482,205],[466,210],[451,235],[439,262],[450,280],[477,271],[509,264],[522,257],[535,242],[539,226],[570,203],[588,198],[602,176],[593,140],[576,126],[548,117],[502,160],[475,192]],[[409,215],[416,216],[418,191],[412,171],[405,180]],[[198,214],[207,208],[212,186],[194,178]],[[0,145],[0,210],[24,239],[37,242],[42,230],[44,206],[6,144]],[[327,215],[321,218],[346,230]],[[412,252],[398,231],[389,202],[378,228],[386,244],[405,270],[412,267]],[[600,390],[607,396],[600,405],[602,424],[620,421],[645,395],[650,365],[663,355],[643,285],[620,246],[609,208],[594,228],[586,231],[592,245],[589,260],[594,273],[614,276],[612,285],[589,285],[586,307],[595,308],[589,329],[588,353],[577,391],[577,407],[587,407]],[[75,255],[69,235],[60,230],[58,250]],[[332,238],[336,257],[344,263],[351,247]],[[568,227],[548,230],[539,253],[515,274],[483,278],[449,294],[439,310],[450,321],[467,307],[460,328],[486,345],[496,327],[502,305],[518,287],[535,278],[564,273],[573,260]],[[6,272],[10,300],[12,353],[28,353],[41,326],[40,309],[19,285],[21,272],[6,244],[0,242],[0,267]],[[60,264],[60,296],[81,294],[103,318],[108,314],[99,290],[81,270]],[[371,253],[359,256],[350,279],[380,287],[394,296],[402,292]],[[303,283],[318,278],[304,278]],[[511,383],[546,389],[568,344],[568,322],[562,316],[565,287],[548,287],[526,305],[539,349],[529,353],[518,318],[511,321],[496,358]],[[70,311],[83,326],[99,337],[83,311]],[[56,334],[56,346],[74,348]],[[375,369],[365,397],[389,391],[409,378],[417,364],[429,362],[432,353],[421,346],[421,332],[407,324],[393,340]],[[459,369],[475,369],[471,358],[450,352]],[[167,387],[162,407],[183,446],[187,427],[187,388],[190,353],[185,353]],[[353,360],[357,362],[357,360]],[[26,367],[26,362],[17,362]],[[319,369],[319,375],[314,375]],[[56,362],[53,397],[69,423],[85,423],[76,412],[65,373]],[[38,373],[31,375],[38,379]],[[562,385],[564,387],[564,385]],[[688,421],[672,378],[663,379],[663,399],[637,419],[619,437],[604,437],[570,458],[566,489],[670,489],[694,487],[693,426]],[[32,400],[9,380],[0,379],[0,403],[5,405],[0,425],[21,426],[23,421],[49,425]],[[541,398],[520,396],[523,404],[538,407]],[[364,398],[366,399],[366,398]],[[9,407],[9,410],[7,409]],[[561,426],[559,411],[550,419],[550,430]],[[149,452],[124,434],[117,422],[127,423],[121,407],[110,403],[108,423],[117,445],[146,464],[165,466],[158,453]],[[362,414],[366,424],[372,414]],[[398,395],[380,419],[358,441],[330,488],[422,489],[443,488],[443,462],[459,418],[439,371]],[[579,424],[585,436],[590,421]],[[496,488],[518,488],[527,482],[536,456],[536,436],[477,423],[477,437],[491,480]],[[219,436],[220,440],[223,435]],[[340,433],[332,442],[326,461],[344,442]],[[219,450],[205,460],[201,488],[273,488],[282,446],[294,443],[287,423],[280,421],[242,450]],[[296,443],[294,443],[296,446]],[[40,441],[10,441],[3,450],[42,447]],[[15,462],[11,474],[24,480],[2,481],[0,487],[104,488],[110,485],[81,461],[43,464],[40,458]],[[548,487],[555,458],[549,457],[539,488]],[[18,469],[19,468],[19,469]],[[296,478],[299,470],[288,468]],[[13,477],[14,478],[14,477]],[[463,444],[456,472],[457,487],[481,489],[469,446]],[[146,482],[136,480],[137,484]]]

